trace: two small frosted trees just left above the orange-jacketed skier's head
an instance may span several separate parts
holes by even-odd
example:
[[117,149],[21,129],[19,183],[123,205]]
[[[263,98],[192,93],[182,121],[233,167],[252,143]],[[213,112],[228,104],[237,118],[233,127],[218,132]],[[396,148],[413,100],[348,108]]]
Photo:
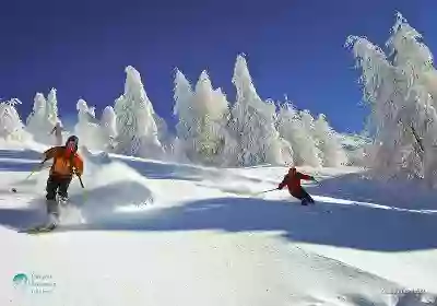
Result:
[[35,141],[51,145],[55,144],[56,139],[50,132],[58,122],[61,123],[58,118],[56,90],[51,89],[48,99],[44,97],[44,94],[36,93],[33,110],[26,119],[26,131]]

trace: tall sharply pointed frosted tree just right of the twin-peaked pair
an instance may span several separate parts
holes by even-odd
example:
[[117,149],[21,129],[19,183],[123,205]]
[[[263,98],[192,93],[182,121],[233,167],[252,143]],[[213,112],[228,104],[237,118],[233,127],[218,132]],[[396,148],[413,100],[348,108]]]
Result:
[[237,101],[231,110],[229,131],[238,165],[284,164],[283,142],[275,129],[276,109],[263,102],[253,86],[244,56],[238,56],[233,83]]

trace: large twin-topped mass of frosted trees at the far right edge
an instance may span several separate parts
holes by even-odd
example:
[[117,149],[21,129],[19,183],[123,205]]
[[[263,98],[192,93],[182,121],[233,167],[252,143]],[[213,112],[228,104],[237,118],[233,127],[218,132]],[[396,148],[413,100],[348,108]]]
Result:
[[371,108],[375,143],[368,164],[382,177],[408,176],[437,183],[437,72],[422,35],[397,14],[388,56],[364,37],[351,36],[364,99]]

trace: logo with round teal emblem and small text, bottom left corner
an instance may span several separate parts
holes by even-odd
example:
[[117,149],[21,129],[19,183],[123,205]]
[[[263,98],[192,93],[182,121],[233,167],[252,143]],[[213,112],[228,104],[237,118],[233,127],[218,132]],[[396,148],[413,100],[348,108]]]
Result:
[[51,293],[56,287],[56,282],[50,274],[17,273],[13,276],[12,283],[16,290],[33,294]]

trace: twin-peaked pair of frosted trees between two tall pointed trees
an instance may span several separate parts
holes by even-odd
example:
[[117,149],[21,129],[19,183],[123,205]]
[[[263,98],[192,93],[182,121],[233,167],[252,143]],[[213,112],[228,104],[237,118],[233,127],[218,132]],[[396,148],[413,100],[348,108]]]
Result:
[[179,117],[176,145],[191,162],[223,165],[228,103],[221,89],[214,90],[208,72],[203,71],[193,92],[184,73],[177,70],[175,101],[174,114]]

